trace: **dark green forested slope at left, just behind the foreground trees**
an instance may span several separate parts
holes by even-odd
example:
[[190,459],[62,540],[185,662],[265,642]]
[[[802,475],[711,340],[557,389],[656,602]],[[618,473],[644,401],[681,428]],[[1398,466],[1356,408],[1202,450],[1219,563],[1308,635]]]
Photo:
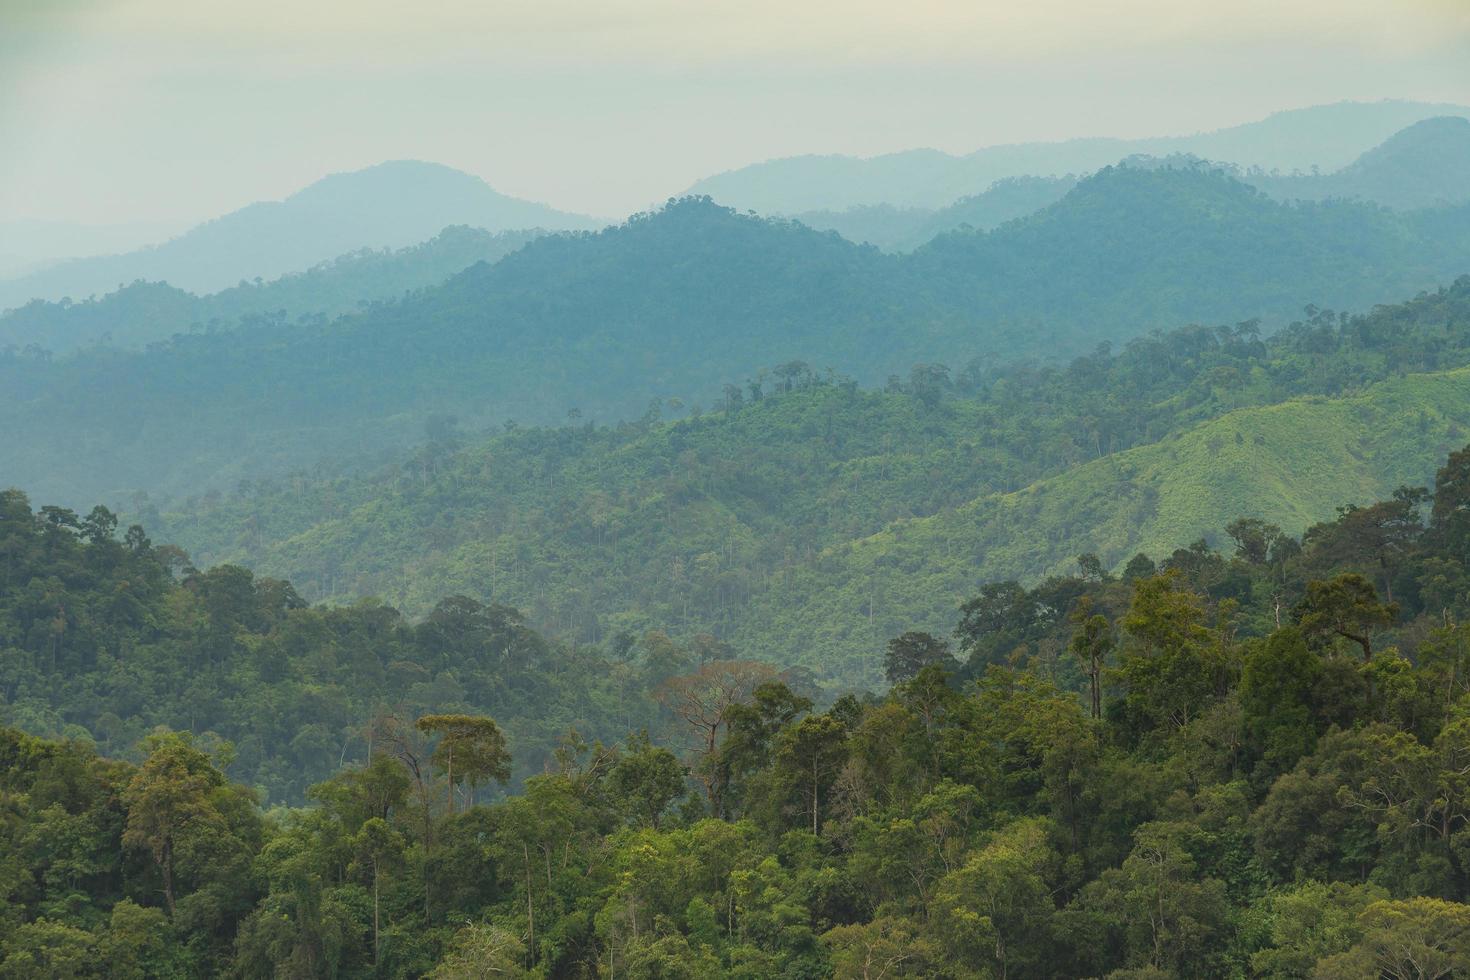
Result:
[[[578,727],[651,723],[647,691],[723,649],[662,633],[591,648],[550,642],[522,616],[463,597],[419,621],[365,599],[309,607],[278,579],[193,567],[103,507],[32,513],[0,494],[0,710],[9,724],[131,757],[153,729],[228,741],[232,777],[265,801],[369,755],[385,718],[492,711],[539,770]],[[650,673],[651,671],[651,673]]]

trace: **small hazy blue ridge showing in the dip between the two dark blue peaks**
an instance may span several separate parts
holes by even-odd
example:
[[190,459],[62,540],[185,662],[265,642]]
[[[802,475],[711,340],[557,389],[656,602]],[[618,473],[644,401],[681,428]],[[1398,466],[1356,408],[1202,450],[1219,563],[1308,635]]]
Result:
[[910,251],[948,231],[989,231],[1033,215],[1061,200],[1076,184],[1072,176],[1013,176],[948,207],[866,204],[842,212],[803,212],[795,215],[795,220],[808,228],[835,231],[848,241],[878,245],[883,251]]

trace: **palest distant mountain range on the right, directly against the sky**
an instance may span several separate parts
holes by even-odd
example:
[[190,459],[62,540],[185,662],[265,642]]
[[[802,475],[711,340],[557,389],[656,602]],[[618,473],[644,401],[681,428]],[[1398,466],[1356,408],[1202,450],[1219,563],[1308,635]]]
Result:
[[761,215],[800,215],[870,204],[938,209],[1003,178],[1088,173],[1132,154],[1186,153],[1267,172],[1336,170],[1411,123],[1467,115],[1470,107],[1441,103],[1336,103],[1185,137],[1023,143],[966,156],[907,150],[867,159],[785,157],[706,178],[688,192]]

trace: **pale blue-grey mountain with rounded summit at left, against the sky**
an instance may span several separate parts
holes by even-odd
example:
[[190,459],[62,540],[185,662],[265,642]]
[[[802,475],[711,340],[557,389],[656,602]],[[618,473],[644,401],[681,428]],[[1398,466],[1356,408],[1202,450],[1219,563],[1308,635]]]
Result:
[[397,160],[332,173],[284,201],[250,204],[162,245],[75,259],[0,282],[0,309],[28,300],[81,300],[137,279],[213,292],[309,269],[360,248],[403,248],[450,225],[488,231],[594,228],[597,220],[497,192],[437,163]]

